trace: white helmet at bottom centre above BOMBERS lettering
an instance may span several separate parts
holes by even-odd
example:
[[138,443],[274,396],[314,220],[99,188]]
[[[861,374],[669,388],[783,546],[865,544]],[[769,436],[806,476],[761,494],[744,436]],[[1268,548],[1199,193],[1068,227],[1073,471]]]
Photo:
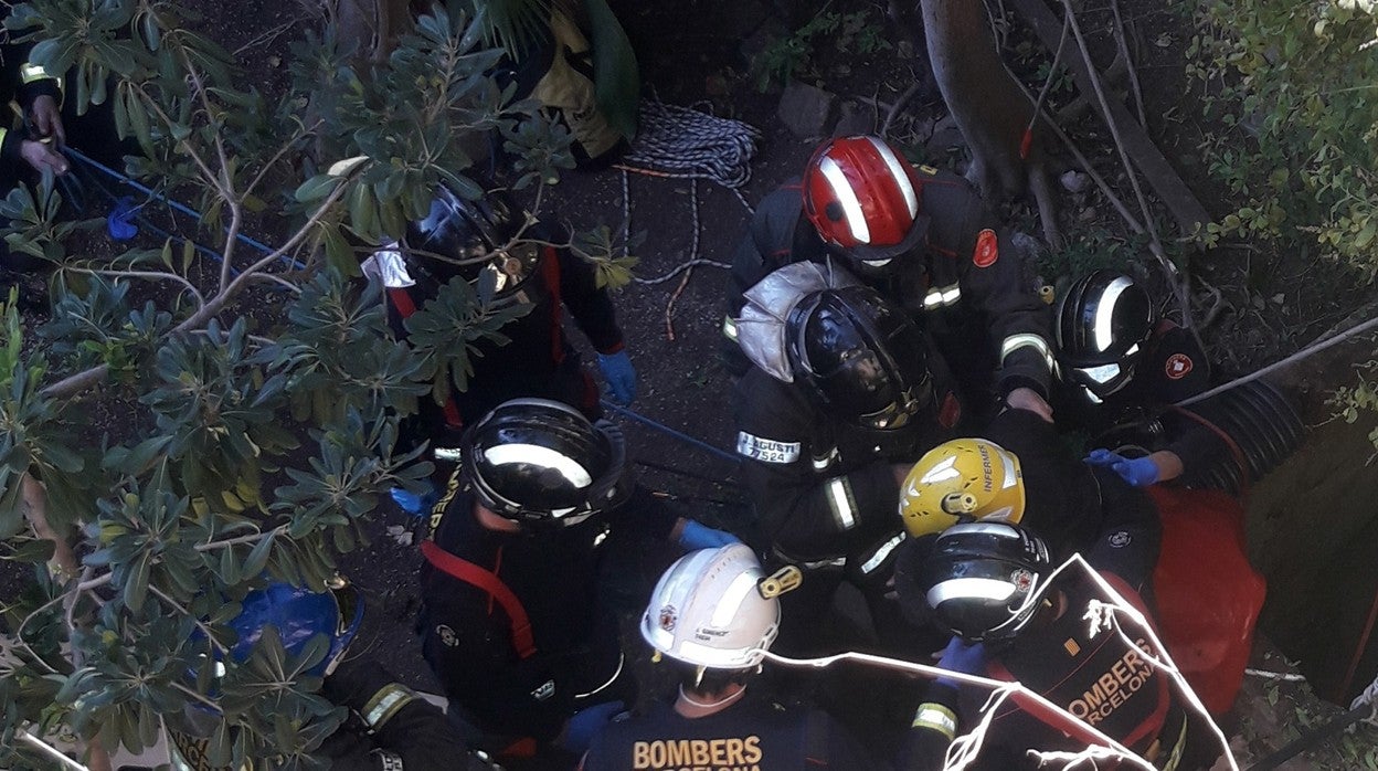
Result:
[[706,669],[761,663],[780,630],[780,600],[762,596],[750,546],[690,552],[660,577],[641,636],[661,654]]

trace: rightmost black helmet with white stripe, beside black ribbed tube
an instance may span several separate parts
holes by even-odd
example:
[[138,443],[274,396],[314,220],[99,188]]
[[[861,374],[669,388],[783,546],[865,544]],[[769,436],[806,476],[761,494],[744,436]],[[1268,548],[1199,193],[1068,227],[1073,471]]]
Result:
[[1153,303],[1133,279],[1112,270],[1083,276],[1057,306],[1061,377],[1104,399],[1133,379],[1152,331]]

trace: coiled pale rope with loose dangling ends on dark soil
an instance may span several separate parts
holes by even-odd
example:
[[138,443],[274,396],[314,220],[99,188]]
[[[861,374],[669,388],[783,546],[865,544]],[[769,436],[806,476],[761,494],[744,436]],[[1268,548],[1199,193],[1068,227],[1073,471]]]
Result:
[[741,194],[741,188],[751,179],[751,157],[755,156],[761,131],[754,126],[718,117],[711,112],[693,106],[667,105],[657,98],[642,99],[638,117],[638,132],[631,148],[620,163],[613,164],[621,171],[621,222],[623,241],[631,236],[631,174],[645,174],[661,179],[689,179],[689,207],[693,236],[689,257],[675,269],[655,279],[634,279],[638,284],[660,284],[683,274],[679,287],[666,305],[666,331],[674,339],[670,323],[675,299],[689,281],[689,273],[697,265],[711,268],[732,268],[726,262],[701,259],[699,257],[699,181],[708,179],[733,192],[741,206],[751,212],[751,204]]

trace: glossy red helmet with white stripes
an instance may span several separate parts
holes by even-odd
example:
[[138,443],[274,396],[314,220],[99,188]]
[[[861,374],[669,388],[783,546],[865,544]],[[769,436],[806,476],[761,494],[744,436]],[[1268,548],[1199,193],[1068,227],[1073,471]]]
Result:
[[889,261],[918,244],[919,182],[879,137],[824,142],[803,171],[803,211],[824,241],[863,262]]

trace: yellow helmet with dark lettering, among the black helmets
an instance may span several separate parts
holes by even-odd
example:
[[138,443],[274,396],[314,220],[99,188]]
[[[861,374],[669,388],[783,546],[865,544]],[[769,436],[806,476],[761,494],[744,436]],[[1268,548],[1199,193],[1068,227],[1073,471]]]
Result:
[[959,521],[1017,524],[1022,516],[1020,459],[985,439],[954,439],[929,450],[900,488],[900,517],[914,538]]

